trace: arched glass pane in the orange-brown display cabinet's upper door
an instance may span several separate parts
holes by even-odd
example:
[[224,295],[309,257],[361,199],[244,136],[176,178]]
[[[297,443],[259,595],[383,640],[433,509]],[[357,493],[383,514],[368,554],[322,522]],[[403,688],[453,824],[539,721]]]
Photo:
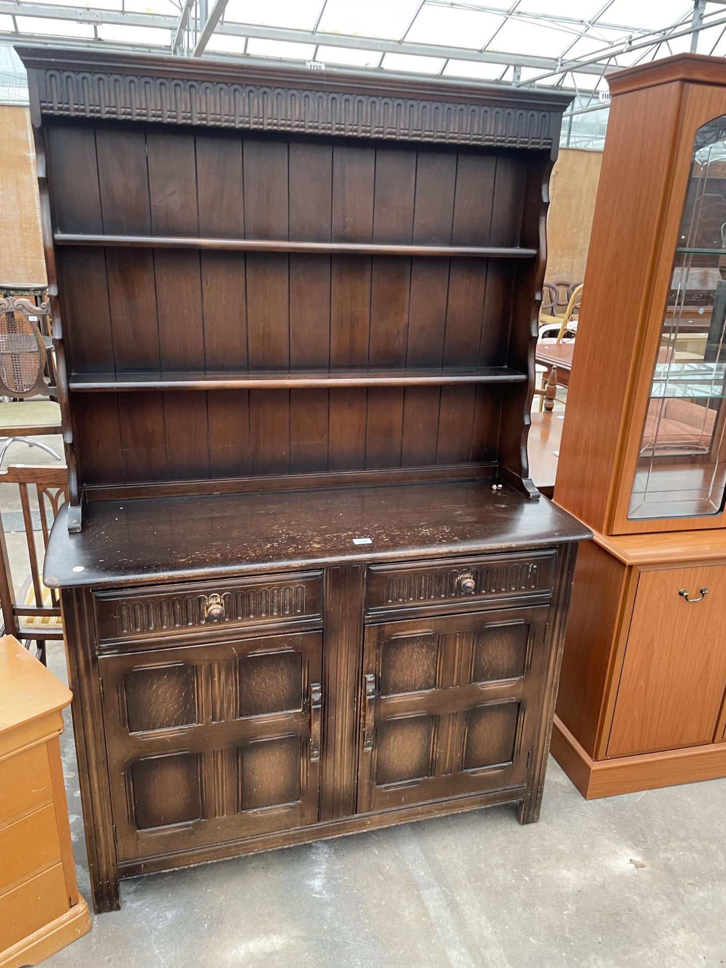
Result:
[[726,115],[696,133],[628,518],[718,514],[726,482]]

